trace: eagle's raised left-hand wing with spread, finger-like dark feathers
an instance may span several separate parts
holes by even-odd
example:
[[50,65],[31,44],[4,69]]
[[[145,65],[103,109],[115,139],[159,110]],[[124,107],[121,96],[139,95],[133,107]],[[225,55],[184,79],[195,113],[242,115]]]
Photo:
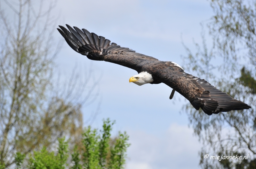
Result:
[[69,25],[67,27],[70,32],[63,26],[57,29],[72,49],[86,55],[91,60],[104,60],[116,63],[132,68],[138,73],[141,71],[143,64],[158,62],[156,58],[151,56],[136,53],[129,48],[120,47],[116,43],[110,44],[110,40],[95,33],[90,33],[86,29],[80,30],[77,27],[73,29]]

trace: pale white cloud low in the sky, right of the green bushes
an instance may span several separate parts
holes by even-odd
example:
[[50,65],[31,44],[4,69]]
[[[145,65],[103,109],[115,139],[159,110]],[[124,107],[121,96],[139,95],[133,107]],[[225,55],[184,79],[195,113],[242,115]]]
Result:
[[129,131],[127,169],[198,168],[200,143],[187,126],[172,124],[158,136]]

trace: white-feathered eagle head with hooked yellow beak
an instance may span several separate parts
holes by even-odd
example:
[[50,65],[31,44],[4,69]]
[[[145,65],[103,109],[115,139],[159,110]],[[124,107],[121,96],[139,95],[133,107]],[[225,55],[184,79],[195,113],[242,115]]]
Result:
[[133,82],[139,86],[153,82],[153,77],[148,72],[140,72],[137,75],[132,76],[129,82]]

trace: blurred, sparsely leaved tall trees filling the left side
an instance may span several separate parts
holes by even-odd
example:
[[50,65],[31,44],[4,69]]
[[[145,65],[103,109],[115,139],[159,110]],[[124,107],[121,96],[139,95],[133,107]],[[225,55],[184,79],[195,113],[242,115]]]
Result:
[[53,39],[55,5],[52,0],[0,1],[0,168],[12,165],[17,151],[50,147],[63,135],[76,142],[82,137],[81,106],[97,97],[88,101],[98,81],[84,90],[90,75],[80,83],[75,73],[66,85],[52,82],[61,46]]

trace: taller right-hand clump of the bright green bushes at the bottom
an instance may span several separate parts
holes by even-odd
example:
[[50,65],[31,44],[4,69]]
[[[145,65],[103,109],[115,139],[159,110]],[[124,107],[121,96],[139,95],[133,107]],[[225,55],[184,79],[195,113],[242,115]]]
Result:
[[[130,146],[127,143],[129,136],[124,132],[119,132],[114,140],[110,140],[110,131],[112,130],[112,122],[107,119],[103,121],[103,130],[98,133],[89,126],[84,132],[84,167],[86,169],[94,168],[123,168],[126,157],[126,150]],[[110,145],[110,141],[112,145]],[[108,159],[108,153],[110,158]]]

